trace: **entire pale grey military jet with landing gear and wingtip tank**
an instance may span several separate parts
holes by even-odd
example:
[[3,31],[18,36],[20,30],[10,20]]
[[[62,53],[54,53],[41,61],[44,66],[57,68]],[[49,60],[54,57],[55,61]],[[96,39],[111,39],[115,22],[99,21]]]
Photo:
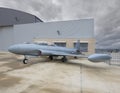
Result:
[[75,48],[66,48],[57,45],[23,43],[10,46],[8,51],[14,54],[24,55],[24,64],[27,64],[28,61],[26,56],[49,56],[50,60],[53,60],[54,57],[62,56],[62,62],[67,61],[66,56],[88,58],[88,60],[92,62],[103,62],[111,59],[111,56],[108,54],[92,54],[90,56],[85,56],[80,50],[79,40],[77,41]]

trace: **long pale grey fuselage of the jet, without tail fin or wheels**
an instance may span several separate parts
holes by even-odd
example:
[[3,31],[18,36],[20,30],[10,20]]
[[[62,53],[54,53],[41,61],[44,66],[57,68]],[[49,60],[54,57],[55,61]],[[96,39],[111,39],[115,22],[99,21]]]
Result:
[[37,44],[16,44],[10,46],[8,49],[10,52],[20,55],[32,55],[32,56],[46,56],[50,55],[50,52],[66,52],[70,54],[77,54],[76,49],[66,48],[59,46],[37,45]]

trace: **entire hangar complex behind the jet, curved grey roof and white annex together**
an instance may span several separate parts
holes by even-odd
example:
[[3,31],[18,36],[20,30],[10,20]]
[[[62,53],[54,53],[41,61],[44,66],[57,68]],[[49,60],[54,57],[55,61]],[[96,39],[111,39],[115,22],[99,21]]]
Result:
[[95,51],[93,19],[43,22],[21,11],[6,8],[1,8],[1,11],[5,15],[0,16],[1,51],[24,42],[51,42],[73,48],[77,40],[80,40],[83,52],[90,54]]

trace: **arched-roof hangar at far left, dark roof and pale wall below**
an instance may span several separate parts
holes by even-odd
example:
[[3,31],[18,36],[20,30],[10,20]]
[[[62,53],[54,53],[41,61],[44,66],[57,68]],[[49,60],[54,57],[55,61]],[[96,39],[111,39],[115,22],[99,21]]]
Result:
[[43,21],[29,13],[9,8],[0,8],[0,51],[6,51],[8,46],[14,44],[13,30],[16,24],[37,22]]

